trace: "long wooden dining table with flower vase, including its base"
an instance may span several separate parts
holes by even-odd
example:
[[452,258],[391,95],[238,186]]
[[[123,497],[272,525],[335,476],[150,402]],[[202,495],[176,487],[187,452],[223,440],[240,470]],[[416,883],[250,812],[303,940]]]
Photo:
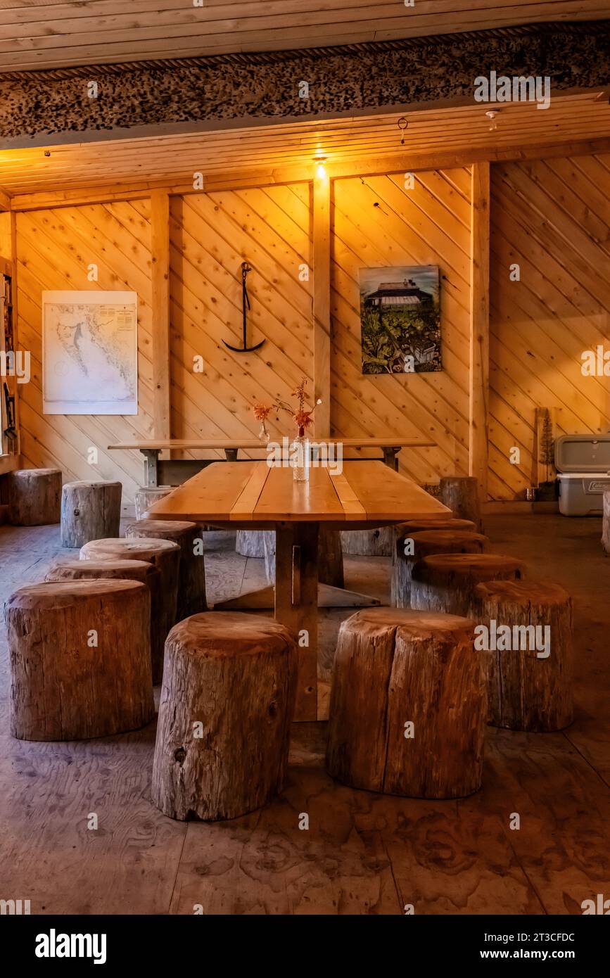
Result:
[[[153,519],[194,520],[222,529],[275,530],[275,587],[214,607],[274,607],[277,620],[297,639],[295,720],[301,721],[317,719],[320,598],[339,606],[378,603],[344,589],[319,587],[320,524],[366,530],[450,515],[411,479],[377,461],[345,462],[336,474],[328,467],[311,467],[306,482],[296,482],[287,466],[213,463],[155,503],[150,513]],[[337,592],[334,599],[332,592]]]

